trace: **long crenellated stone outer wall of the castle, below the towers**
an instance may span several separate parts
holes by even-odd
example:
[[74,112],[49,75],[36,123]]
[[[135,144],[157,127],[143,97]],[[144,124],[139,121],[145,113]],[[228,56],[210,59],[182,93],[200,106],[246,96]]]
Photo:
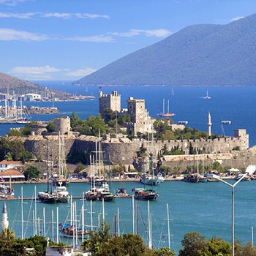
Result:
[[[246,131],[239,129],[235,132],[236,136],[233,138],[217,138],[217,139],[200,139],[200,140],[164,140],[154,141],[148,143],[147,140],[128,138],[108,138],[100,139],[101,151],[104,151],[106,160],[110,160],[115,164],[131,165],[133,159],[137,157],[137,151],[140,146],[143,146],[151,151],[154,149],[154,156],[162,155],[162,150],[166,145],[168,150],[178,147],[182,148],[184,154],[189,154],[189,145],[193,148],[203,150],[205,154],[228,154],[233,151],[233,148],[239,147],[241,151],[246,151],[249,148],[249,136]],[[89,135],[80,135],[75,138],[74,135],[63,135],[65,145],[65,155],[89,154],[91,151],[99,151],[99,138]],[[29,136],[24,145],[27,151],[30,151],[40,159],[47,159],[47,140],[48,140],[48,154],[53,155],[53,158],[59,155],[59,136],[58,135],[34,135]],[[240,151],[237,151],[240,152]]]

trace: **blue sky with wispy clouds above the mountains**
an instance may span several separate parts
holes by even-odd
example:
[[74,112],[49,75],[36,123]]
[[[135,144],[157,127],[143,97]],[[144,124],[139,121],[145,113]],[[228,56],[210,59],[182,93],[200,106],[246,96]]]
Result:
[[256,0],[0,0],[0,72],[75,81],[186,26],[255,12]]

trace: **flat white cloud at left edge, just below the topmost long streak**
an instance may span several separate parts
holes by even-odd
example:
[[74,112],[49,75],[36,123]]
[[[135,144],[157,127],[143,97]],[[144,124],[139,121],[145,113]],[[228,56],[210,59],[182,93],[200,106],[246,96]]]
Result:
[[44,34],[34,34],[15,29],[0,29],[0,41],[44,41],[48,37]]

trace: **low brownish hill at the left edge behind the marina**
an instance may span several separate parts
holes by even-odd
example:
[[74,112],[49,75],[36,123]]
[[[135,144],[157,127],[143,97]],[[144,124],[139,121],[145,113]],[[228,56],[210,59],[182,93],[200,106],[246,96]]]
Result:
[[[15,78],[11,75],[7,75],[0,72],[0,93],[6,94],[9,89],[9,93],[15,91],[15,94],[41,94],[45,95],[45,86],[39,86],[35,83],[31,83],[26,80]],[[47,89],[48,97],[68,98],[71,94],[64,91],[56,91],[53,89]]]

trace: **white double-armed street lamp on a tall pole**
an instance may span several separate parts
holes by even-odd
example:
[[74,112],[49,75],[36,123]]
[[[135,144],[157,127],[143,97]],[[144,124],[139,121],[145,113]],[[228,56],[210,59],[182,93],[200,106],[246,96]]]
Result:
[[227,186],[230,186],[231,189],[232,189],[232,215],[231,215],[231,230],[232,230],[232,256],[235,256],[235,187],[236,185],[242,181],[248,174],[249,175],[252,175],[252,173],[254,173],[256,170],[256,166],[255,165],[249,165],[247,168],[246,168],[246,173],[241,176],[241,178],[238,179],[238,181],[236,181],[235,184],[230,184],[228,183],[227,181],[223,181],[218,175],[216,174],[210,174],[208,177],[211,177],[211,178],[216,178],[218,181],[222,181],[224,184],[227,184]]

